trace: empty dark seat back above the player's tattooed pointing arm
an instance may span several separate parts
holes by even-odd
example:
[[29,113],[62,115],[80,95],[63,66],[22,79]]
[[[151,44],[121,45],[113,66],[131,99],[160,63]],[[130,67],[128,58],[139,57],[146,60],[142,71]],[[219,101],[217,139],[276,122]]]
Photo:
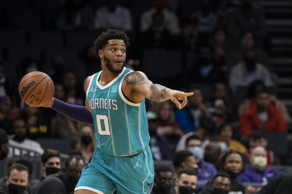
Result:
[[181,51],[145,50],[142,71],[149,77],[175,77],[182,71]]

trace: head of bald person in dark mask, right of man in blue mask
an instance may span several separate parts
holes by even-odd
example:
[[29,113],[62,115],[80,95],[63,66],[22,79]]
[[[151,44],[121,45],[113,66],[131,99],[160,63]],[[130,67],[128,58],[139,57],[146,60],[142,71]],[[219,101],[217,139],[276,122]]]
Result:
[[220,145],[217,142],[210,142],[205,148],[204,160],[217,167],[221,155]]

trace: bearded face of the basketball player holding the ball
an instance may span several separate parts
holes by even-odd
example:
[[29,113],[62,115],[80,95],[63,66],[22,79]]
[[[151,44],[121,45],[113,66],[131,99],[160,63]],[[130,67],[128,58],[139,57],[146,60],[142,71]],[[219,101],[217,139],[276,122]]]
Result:
[[126,45],[123,40],[111,39],[102,49],[100,57],[112,73],[121,73],[126,59]]

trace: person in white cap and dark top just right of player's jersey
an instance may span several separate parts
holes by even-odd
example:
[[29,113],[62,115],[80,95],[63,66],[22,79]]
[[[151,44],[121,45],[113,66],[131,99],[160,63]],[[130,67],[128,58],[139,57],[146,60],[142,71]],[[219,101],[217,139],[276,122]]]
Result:
[[147,111],[148,128],[150,135],[150,149],[153,160],[171,160],[172,151],[167,138],[163,134],[157,134],[157,118],[156,115]]

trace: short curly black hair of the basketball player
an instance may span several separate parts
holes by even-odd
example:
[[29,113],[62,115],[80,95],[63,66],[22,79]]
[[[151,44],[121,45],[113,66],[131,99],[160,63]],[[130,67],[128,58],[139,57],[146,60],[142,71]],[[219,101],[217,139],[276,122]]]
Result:
[[126,35],[126,33],[123,30],[117,30],[117,29],[107,29],[106,32],[102,32],[100,36],[95,39],[94,43],[94,54],[95,56],[100,59],[98,55],[98,51],[102,49],[106,44],[108,40],[111,39],[120,39],[125,42],[126,48],[130,45],[129,43],[129,37]]

